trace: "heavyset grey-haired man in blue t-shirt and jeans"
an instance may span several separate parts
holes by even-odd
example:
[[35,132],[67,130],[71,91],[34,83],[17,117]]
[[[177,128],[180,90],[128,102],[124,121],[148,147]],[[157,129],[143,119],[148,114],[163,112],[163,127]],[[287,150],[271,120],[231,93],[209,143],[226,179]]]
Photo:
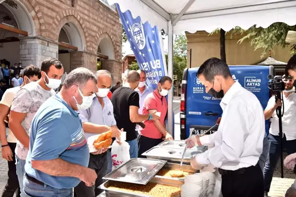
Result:
[[76,68],[67,75],[59,94],[38,109],[25,165],[26,195],[71,197],[80,181],[89,187],[94,184],[97,174],[87,167],[89,149],[76,111],[90,107],[98,90],[96,83],[90,70]]

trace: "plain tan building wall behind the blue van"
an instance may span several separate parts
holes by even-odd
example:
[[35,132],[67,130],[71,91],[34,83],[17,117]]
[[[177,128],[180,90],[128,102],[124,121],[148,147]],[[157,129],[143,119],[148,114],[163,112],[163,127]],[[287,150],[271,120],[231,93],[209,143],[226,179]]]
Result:
[[[220,58],[220,34],[208,36],[206,32],[186,33],[187,49],[192,49],[191,67],[198,67],[209,58]],[[237,41],[243,37],[235,35],[230,39],[230,34],[225,36],[226,62],[228,65],[254,65],[268,57],[268,53],[261,59],[262,49],[254,51],[254,47],[250,46],[250,42],[244,41],[238,44]],[[290,47],[282,48],[280,46],[274,48],[274,54],[271,56],[278,61],[288,62],[291,58]],[[188,54],[187,67],[189,67]]]

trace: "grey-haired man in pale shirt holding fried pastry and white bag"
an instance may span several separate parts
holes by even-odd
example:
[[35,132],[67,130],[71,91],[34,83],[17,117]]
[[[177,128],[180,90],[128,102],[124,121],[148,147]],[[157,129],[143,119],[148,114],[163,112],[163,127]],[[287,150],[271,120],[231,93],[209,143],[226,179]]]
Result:
[[[113,115],[113,105],[107,97],[111,86],[111,74],[107,70],[98,70],[95,76],[98,81],[98,92],[95,93],[88,109],[78,111],[85,137],[112,131],[112,137],[120,139],[120,132]],[[97,197],[103,192],[98,187],[103,183],[102,178],[107,171],[111,172],[111,151],[99,155],[90,153],[88,167],[96,171],[98,178],[92,187],[87,187],[81,181],[74,189],[76,197]]]

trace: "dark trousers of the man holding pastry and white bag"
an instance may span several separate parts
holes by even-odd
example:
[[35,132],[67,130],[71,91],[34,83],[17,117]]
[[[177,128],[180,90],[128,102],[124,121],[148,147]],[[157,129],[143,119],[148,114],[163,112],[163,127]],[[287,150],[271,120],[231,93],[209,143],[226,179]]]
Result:
[[102,178],[107,174],[107,152],[100,155],[90,154],[88,167],[95,170],[98,175],[95,185],[87,187],[85,183],[81,181],[74,188],[74,197],[97,197],[103,192],[103,190],[98,189],[98,187],[104,183]]

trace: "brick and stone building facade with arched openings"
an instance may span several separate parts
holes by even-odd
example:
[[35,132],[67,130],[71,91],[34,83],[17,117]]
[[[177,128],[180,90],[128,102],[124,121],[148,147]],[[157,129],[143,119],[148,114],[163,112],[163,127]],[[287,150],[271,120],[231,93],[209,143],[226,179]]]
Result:
[[[83,45],[80,51],[71,53],[71,69],[84,66],[96,71],[98,46],[106,39],[113,48],[108,51],[109,59],[113,60],[111,63],[114,66],[117,62],[121,64],[119,16],[99,0],[74,0],[74,5],[72,0],[15,1],[21,5],[18,9],[23,7],[26,10],[35,28],[34,34],[20,41],[20,62],[24,66],[41,66],[46,57],[58,58],[59,34],[66,23],[74,24]],[[118,74],[121,76],[121,66]]]

